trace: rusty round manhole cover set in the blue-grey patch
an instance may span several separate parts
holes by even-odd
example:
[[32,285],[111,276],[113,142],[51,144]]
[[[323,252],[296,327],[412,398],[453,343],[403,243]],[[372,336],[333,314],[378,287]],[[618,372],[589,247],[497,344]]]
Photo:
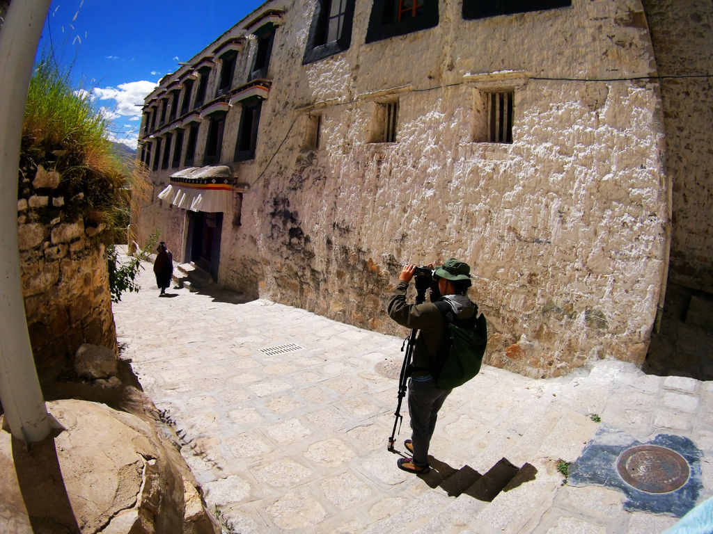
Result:
[[676,491],[691,473],[683,456],[657,445],[625,450],[617,461],[617,471],[625,482],[647,493]]

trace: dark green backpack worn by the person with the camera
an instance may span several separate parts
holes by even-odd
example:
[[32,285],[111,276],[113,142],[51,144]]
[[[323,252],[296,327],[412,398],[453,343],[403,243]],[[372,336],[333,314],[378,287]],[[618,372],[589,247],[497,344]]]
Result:
[[488,345],[488,325],[485,315],[478,316],[478,306],[473,317],[466,320],[453,318],[453,310],[446,302],[436,303],[436,308],[443,314],[448,328],[441,345],[441,354],[446,357],[436,383],[441,389],[452,389],[480,372]]

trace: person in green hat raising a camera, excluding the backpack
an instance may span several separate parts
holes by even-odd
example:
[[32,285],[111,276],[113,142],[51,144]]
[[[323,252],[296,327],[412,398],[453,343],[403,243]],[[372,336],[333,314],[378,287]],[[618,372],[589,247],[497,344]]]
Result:
[[[442,266],[416,267],[407,265],[399,274],[399,283],[389,300],[389,317],[399,325],[420,330],[413,352],[413,365],[409,380],[409,416],[411,439],[404,441],[413,458],[401,458],[399,468],[409,473],[425,474],[430,471],[428,455],[431,436],[436,427],[438,410],[452,389],[441,389],[436,384],[438,372],[443,367],[447,347],[444,313],[464,320],[477,313],[477,306],[466,296],[471,286],[471,268],[467,263],[451,258]],[[406,303],[406,290],[411,278],[416,276],[416,304]],[[423,302],[426,289],[431,288],[431,302]],[[421,303],[419,303],[421,302]]]

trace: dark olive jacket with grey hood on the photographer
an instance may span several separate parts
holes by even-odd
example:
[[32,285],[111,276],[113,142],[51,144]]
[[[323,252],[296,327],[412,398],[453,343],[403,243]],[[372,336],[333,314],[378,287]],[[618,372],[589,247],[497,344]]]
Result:
[[[409,283],[399,281],[394,288],[394,293],[389,300],[389,317],[406,328],[419,330],[414,347],[414,372],[413,377],[436,377],[443,366],[445,355],[441,354],[441,342],[446,328],[443,313],[438,310],[435,303],[407,304],[406,290]],[[466,295],[446,295],[438,302],[446,301],[451,305],[453,313],[458,319],[473,316],[477,310],[476,305]]]

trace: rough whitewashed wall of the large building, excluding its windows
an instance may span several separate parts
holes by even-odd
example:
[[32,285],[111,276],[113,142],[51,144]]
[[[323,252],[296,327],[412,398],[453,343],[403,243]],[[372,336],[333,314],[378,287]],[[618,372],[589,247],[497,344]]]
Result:
[[[493,365],[545,376],[602,357],[640,364],[669,220],[659,84],[638,79],[655,75],[640,1],[479,21],[439,6],[436,28],[364,44],[371,4],[357,4],[352,46],[302,66],[314,2],[265,4],[285,23],[250,162],[230,161],[240,112],[228,112],[223,162],[251,188],[241,226],[223,225],[219,283],[404,333],[385,315],[400,266],[456,256],[473,266]],[[512,144],[480,142],[493,90],[514,90]],[[395,99],[396,143],[369,142],[377,106]],[[149,210],[175,232],[165,206]]]

